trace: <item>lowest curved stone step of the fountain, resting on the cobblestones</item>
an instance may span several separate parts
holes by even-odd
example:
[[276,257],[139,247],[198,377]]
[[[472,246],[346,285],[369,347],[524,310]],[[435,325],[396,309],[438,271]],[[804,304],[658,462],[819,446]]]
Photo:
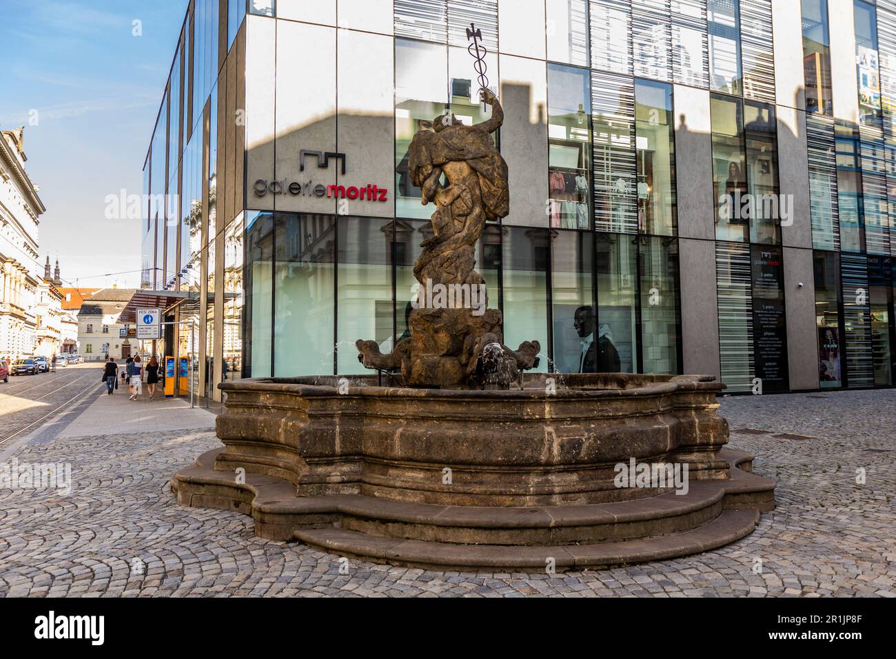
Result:
[[745,537],[758,522],[757,510],[729,509],[711,522],[681,533],[625,542],[538,547],[420,542],[335,527],[301,529],[295,538],[338,556],[395,566],[494,572],[541,571],[553,565],[563,571],[611,568],[710,551]]

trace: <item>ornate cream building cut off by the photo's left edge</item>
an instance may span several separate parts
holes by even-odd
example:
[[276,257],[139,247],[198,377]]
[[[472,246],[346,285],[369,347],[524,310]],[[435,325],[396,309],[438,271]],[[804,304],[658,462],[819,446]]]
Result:
[[46,211],[25,171],[24,126],[0,132],[0,356],[37,343],[38,218]]

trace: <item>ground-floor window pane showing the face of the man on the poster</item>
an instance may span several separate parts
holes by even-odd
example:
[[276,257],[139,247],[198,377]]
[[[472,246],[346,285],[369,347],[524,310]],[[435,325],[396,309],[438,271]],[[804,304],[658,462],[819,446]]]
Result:
[[597,369],[593,248],[593,234],[584,231],[554,231],[551,238],[554,368],[561,373],[594,373]]

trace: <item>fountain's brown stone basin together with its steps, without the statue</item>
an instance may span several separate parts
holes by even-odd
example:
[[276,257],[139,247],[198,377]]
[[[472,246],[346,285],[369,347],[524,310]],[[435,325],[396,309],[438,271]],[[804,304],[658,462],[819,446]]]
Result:
[[[548,377],[556,381],[548,381]],[[223,447],[172,479],[181,504],[255,532],[428,568],[602,567],[733,542],[774,507],[726,448],[711,377],[530,374],[512,391],[376,377],[220,385]],[[617,487],[617,464],[687,467],[685,492]]]

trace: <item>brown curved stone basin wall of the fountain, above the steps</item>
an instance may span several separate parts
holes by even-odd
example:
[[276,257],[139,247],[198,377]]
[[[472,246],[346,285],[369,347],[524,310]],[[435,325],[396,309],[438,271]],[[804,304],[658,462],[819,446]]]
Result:
[[469,506],[637,499],[613,484],[630,458],[728,478],[717,455],[728,441],[722,386],[711,378],[570,375],[564,385],[577,388],[550,393],[546,380],[527,376],[516,391],[372,386],[375,377],[224,383],[217,467],[286,479],[304,496]]

